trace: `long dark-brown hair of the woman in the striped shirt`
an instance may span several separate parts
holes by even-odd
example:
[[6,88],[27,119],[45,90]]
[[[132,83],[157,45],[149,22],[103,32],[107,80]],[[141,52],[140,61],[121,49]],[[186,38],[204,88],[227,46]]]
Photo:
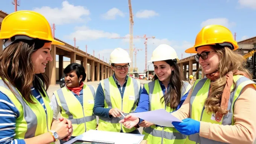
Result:
[[[47,40],[18,40],[7,46],[0,54],[0,77],[9,89],[10,84],[18,89],[21,96],[34,103],[31,97],[32,85],[44,94],[44,88],[49,88],[49,78],[46,74],[35,74],[31,54],[43,47]],[[6,80],[8,81],[6,81]]]

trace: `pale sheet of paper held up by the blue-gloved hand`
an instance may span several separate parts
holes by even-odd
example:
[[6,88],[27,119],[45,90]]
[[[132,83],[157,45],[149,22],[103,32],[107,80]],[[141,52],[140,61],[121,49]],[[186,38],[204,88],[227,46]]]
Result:
[[134,115],[136,117],[139,117],[151,123],[157,124],[159,126],[166,126],[166,127],[174,127],[172,125],[172,121],[182,122],[181,120],[174,117],[172,114],[168,113],[164,109],[141,112],[141,113],[131,113],[131,115]]

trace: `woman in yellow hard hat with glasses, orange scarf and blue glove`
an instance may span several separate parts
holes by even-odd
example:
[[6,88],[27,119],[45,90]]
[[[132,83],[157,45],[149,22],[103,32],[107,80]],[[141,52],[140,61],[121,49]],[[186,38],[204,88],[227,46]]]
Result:
[[229,29],[209,25],[197,34],[187,53],[206,78],[196,80],[181,108],[172,113],[183,122],[172,122],[188,135],[186,144],[252,144],[256,138],[256,84],[236,54],[238,43]]

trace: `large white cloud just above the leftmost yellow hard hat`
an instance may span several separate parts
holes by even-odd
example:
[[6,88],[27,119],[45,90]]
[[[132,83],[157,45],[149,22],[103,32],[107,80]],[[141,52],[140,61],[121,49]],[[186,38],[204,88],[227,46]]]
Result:
[[88,17],[90,11],[88,9],[83,6],[71,5],[68,1],[63,1],[60,9],[58,7],[43,6],[41,8],[34,8],[33,10],[44,15],[50,24],[55,23],[61,25],[90,20]]

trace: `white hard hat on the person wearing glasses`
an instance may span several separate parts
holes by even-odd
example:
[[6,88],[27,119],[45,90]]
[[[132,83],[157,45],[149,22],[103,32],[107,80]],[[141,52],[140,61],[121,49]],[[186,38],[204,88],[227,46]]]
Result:
[[127,51],[116,48],[110,54],[109,63],[131,63],[131,58]]

